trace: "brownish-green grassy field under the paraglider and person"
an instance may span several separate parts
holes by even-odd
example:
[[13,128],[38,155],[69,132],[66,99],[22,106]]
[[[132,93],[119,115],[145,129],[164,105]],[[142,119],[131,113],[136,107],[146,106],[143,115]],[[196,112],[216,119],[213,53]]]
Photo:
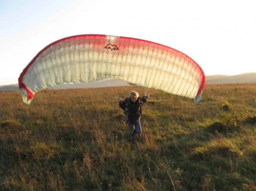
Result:
[[256,190],[256,84],[206,85],[199,104],[155,92],[133,142],[130,90],[0,92],[0,190]]

